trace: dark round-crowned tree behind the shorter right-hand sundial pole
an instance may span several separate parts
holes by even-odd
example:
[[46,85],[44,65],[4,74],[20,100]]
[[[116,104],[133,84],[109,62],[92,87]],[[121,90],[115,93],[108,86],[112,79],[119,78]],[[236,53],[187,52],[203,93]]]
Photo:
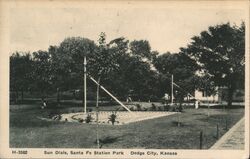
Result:
[[182,102],[184,96],[190,92],[194,92],[194,77],[198,68],[196,62],[183,53],[171,54],[167,52],[159,55],[153,61],[155,68],[165,77],[165,83],[169,83],[165,87],[165,91],[171,94],[171,75],[174,76],[174,83],[179,87],[175,87],[178,91],[174,91],[174,96]]

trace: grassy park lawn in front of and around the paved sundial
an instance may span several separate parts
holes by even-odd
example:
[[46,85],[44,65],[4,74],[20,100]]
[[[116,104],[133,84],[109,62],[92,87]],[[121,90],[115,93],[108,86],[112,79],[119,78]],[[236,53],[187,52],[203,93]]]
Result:
[[[72,108],[71,108],[72,109]],[[82,108],[76,108],[76,111]],[[10,111],[10,147],[12,148],[96,148],[96,125],[44,121],[52,110],[31,105]],[[68,109],[61,109],[60,112]],[[71,110],[72,111],[72,110]],[[74,110],[75,111],[75,110]],[[209,111],[209,117],[208,112]],[[198,149],[200,131],[203,148],[216,141],[244,116],[244,109],[184,109],[183,113],[130,123],[99,125],[102,148]],[[181,125],[177,126],[177,121]],[[119,114],[118,114],[119,120]]]

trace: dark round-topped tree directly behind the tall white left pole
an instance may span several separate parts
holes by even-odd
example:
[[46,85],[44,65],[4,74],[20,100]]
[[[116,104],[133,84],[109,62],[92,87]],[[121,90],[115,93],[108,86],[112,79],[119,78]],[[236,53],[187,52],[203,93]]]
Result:
[[[94,41],[83,37],[65,38],[59,46],[50,46],[54,75],[53,89],[64,91],[81,88],[83,90],[84,56],[89,58],[96,51],[97,46]],[[84,100],[82,102],[84,103]]]

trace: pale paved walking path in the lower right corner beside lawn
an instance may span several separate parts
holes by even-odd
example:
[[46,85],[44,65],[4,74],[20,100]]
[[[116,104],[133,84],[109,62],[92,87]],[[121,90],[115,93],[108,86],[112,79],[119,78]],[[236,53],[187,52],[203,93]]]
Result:
[[245,118],[243,117],[226,134],[224,134],[210,149],[244,149]]

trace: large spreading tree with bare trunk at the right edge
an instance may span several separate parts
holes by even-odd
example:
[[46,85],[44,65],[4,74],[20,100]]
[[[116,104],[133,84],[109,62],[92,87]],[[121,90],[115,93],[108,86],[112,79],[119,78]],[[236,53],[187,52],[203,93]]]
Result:
[[231,106],[233,92],[244,85],[245,24],[240,27],[229,23],[211,26],[194,36],[187,48],[181,50],[195,59],[217,86],[228,87],[227,102]]

